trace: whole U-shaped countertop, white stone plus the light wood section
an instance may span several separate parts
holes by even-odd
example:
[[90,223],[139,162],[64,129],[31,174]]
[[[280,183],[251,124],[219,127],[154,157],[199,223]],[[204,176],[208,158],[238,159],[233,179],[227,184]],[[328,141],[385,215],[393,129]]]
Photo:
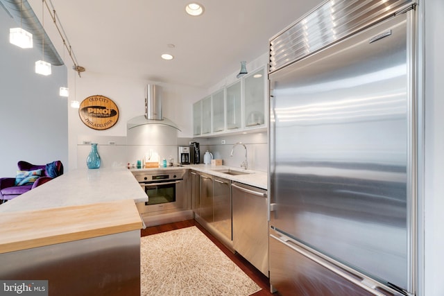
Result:
[[69,171],[0,205],[0,254],[142,228],[135,202],[146,200],[146,193],[132,171],[193,169],[266,189],[266,173],[247,170],[246,175],[227,175],[219,172],[228,168],[244,171],[205,164]]

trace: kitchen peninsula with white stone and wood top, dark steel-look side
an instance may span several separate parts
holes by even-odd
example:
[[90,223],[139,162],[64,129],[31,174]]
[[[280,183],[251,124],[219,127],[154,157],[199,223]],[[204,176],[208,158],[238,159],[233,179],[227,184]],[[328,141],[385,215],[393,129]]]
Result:
[[69,171],[0,206],[0,279],[49,295],[139,295],[146,198],[126,168]]

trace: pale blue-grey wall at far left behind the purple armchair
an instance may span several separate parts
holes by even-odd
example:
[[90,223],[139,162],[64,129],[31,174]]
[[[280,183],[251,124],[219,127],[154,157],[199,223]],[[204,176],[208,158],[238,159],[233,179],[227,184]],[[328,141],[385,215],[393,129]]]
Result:
[[20,49],[9,43],[16,24],[0,8],[0,177],[15,177],[17,162],[46,164],[60,159],[68,169],[67,68],[53,66],[50,76],[34,71],[42,49]]

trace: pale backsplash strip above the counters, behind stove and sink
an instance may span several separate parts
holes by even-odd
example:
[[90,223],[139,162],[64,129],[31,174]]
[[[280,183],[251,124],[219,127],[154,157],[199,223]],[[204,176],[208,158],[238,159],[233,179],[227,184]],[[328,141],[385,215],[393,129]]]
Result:
[[225,135],[214,138],[178,138],[174,134],[162,132],[162,137],[143,137],[141,141],[135,141],[132,135],[129,137],[111,136],[78,136],[77,141],[77,168],[86,168],[86,159],[91,150],[90,143],[98,143],[101,167],[126,166],[128,163],[136,164],[137,159],[144,155],[157,153],[162,158],[172,157],[178,162],[178,146],[188,145],[189,141],[200,143],[200,162],[203,155],[209,150],[215,159],[222,159],[223,165],[239,167],[245,159],[243,146],[236,146],[233,156],[230,157],[234,143],[242,142],[247,148],[248,168],[256,171],[267,171],[268,166],[268,138],[266,132],[253,134]]

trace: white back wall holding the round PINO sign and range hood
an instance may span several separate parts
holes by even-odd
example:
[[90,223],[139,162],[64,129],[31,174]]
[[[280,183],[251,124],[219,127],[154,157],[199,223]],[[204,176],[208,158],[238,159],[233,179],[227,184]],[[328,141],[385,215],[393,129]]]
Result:
[[[69,108],[69,164],[71,168],[82,167],[86,162],[85,153],[89,148],[85,148],[82,145],[83,140],[99,141],[99,153],[102,154],[102,158],[104,157],[104,166],[119,166],[127,162],[133,163],[136,159],[139,159],[143,147],[128,148],[128,146],[120,146],[120,144],[126,145],[122,141],[126,141],[127,121],[133,117],[144,115],[145,87],[148,83],[162,87],[162,113],[164,117],[171,119],[179,126],[181,132],[178,132],[178,137],[190,137],[193,132],[192,103],[207,94],[205,89],[196,89],[182,85],[167,85],[136,78],[109,76],[88,72],[87,70],[81,73],[82,78],[76,76],[75,81],[76,71],[69,71],[68,74],[69,89],[71,89],[69,100],[74,100],[74,93],[76,100],[80,102],[88,96],[100,94],[112,99],[119,107],[119,121],[108,130],[88,128],[80,121],[78,109]],[[74,85],[76,85],[75,92]],[[119,142],[119,145],[107,146],[110,139],[117,139],[116,141]],[[158,146],[162,145],[162,143],[153,143],[153,145]],[[135,151],[134,153],[131,152],[133,150]],[[165,152],[168,154],[166,156],[169,156],[172,152],[172,148],[169,147],[168,152]],[[177,158],[176,154],[174,153],[175,158]]]

